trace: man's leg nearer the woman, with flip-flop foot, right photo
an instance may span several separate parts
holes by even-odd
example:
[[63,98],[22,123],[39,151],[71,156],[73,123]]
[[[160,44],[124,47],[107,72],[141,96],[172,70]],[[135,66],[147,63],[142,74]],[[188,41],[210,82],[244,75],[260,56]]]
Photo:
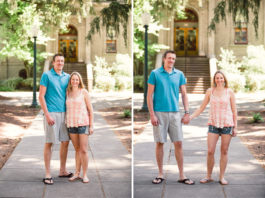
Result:
[[[182,148],[182,141],[180,142],[173,142],[175,146],[175,157],[178,163],[178,170],[179,170],[179,180],[182,181],[183,179],[187,179],[184,175],[183,170],[183,148]],[[185,181],[187,184],[192,184],[193,181]]]

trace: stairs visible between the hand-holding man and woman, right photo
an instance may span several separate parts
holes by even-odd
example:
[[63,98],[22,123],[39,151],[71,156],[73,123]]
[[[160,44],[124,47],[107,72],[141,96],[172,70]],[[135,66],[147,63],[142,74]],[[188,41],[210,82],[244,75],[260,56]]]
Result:
[[204,94],[211,87],[209,59],[201,56],[188,56],[186,65],[185,71],[185,57],[176,58],[174,68],[182,71],[187,78],[187,93]]

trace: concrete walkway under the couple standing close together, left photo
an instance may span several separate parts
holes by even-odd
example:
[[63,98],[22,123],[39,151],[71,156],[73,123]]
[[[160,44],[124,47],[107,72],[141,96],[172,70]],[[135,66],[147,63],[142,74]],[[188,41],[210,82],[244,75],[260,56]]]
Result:
[[[32,103],[32,92],[0,92],[0,95],[18,98],[0,101],[0,104]],[[45,138],[41,111],[0,171],[0,197],[131,197],[131,154],[97,111],[113,106],[130,106],[131,92],[90,93],[90,96],[95,116],[95,133],[88,140],[87,176],[90,182],[83,184],[82,179],[70,182],[68,178],[58,177],[60,143],[57,143],[53,145],[51,159],[54,184],[43,183]],[[75,151],[71,141],[66,168],[75,173]]]

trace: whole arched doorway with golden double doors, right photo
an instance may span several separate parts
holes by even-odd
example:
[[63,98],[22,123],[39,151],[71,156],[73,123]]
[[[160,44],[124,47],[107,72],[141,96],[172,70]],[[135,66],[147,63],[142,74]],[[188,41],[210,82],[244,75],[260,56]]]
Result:
[[185,15],[175,16],[174,50],[176,55],[198,55],[198,16],[191,9]]

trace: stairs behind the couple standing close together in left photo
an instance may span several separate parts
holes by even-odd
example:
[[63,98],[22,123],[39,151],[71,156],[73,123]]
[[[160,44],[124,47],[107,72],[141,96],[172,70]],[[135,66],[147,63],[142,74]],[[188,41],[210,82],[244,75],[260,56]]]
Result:
[[[53,68],[53,65],[52,65],[52,63],[50,63],[49,69],[52,69],[52,68]],[[83,80],[84,85],[86,87],[88,86],[88,84],[87,84],[87,65],[85,63],[77,63],[77,62],[64,63],[63,71],[65,73],[69,73],[69,75],[71,75],[71,73],[73,71],[77,71],[82,76],[82,80]]]

